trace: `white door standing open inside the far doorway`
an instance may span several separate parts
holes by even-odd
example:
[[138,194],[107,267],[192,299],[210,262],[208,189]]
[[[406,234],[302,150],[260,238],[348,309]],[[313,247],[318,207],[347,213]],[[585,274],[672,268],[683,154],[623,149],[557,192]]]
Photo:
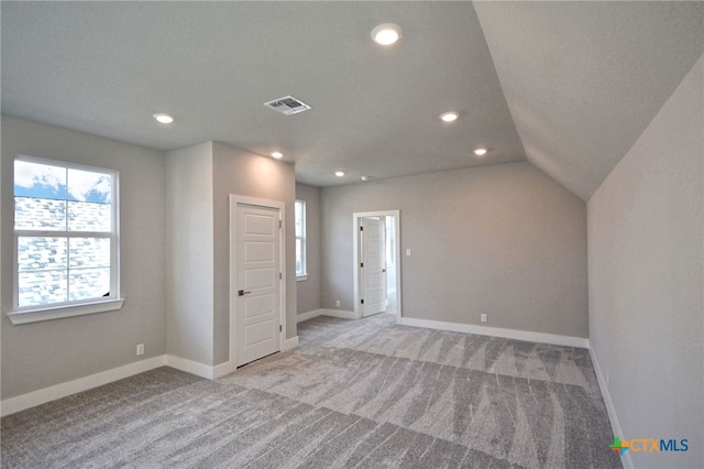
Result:
[[362,218],[362,316],[386,310],[386,226],[384,217]]

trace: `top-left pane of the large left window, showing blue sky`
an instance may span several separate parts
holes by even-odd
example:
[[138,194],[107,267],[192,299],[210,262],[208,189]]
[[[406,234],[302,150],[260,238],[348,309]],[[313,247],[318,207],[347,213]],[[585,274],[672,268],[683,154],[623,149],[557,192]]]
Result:
[[14,195],[66,200],[66,168],[15,160]]

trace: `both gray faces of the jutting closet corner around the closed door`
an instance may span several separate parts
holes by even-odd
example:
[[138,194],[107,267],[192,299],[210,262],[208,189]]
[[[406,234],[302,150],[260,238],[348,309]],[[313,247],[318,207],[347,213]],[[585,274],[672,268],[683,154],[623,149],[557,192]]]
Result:
[[230,359],[231,194],[286,205],[286,336],[296,336],[294,166],[208,142],[167,155],[168,352],[208,366]]

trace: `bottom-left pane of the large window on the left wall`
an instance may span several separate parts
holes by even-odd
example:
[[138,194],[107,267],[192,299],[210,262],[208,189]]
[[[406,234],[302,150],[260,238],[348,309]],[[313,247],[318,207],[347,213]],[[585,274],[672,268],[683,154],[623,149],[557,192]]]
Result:
[[18,276],[18,305],[41,306],[68,301],[67,272],[20,272]]

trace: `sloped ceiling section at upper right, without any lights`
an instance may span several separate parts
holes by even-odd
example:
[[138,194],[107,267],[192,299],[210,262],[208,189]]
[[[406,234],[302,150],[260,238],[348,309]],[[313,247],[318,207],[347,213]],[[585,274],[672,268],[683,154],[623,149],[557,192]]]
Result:
[[703,2],[475,9],[528,160],[585,200],[704,53]]

